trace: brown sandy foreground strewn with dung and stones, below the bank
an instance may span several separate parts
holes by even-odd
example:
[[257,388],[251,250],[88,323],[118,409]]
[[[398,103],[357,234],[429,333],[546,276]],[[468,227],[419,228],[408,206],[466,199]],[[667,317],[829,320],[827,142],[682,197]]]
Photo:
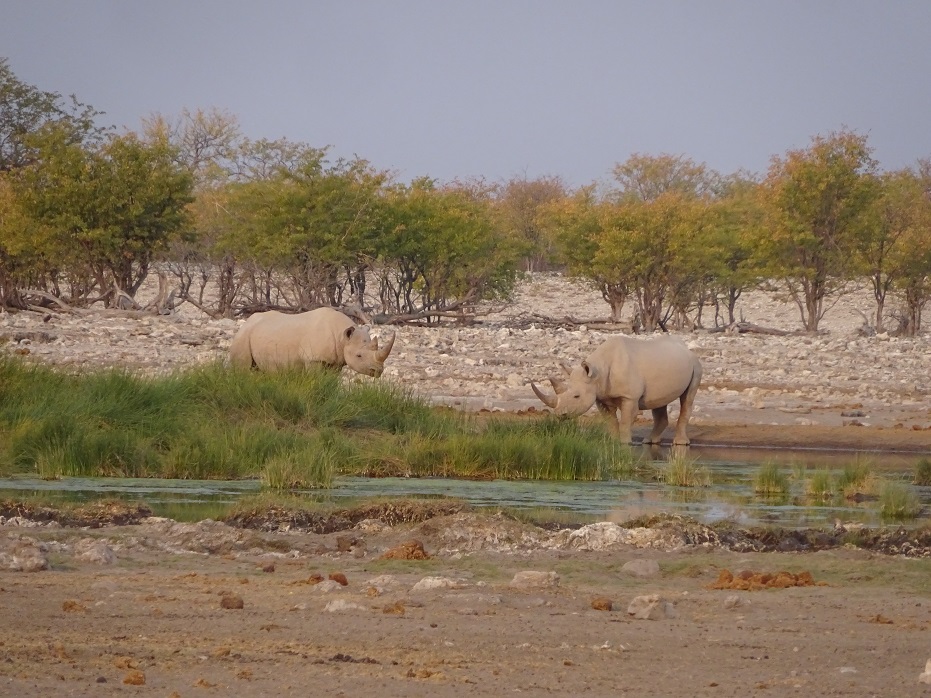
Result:
[[[49,570],[0,573],[0,694],[931,694],[919,682],[931,657],[927,558],[844,548],[440,551],[449,525],[357,528],[342,539],[241,532],[238,544],[207,552],[157,551],[151,526],[0,529],[51,551]],[[519,529],[495,536],[519,540]],[[88,536],[116,560],[68,552]],[[433,557],[381,559],[408,538]],[[623,566],[634,560],[658,572],[633,576]],[[809,572],[816,585],[710,588],[725,569]],[[516,587],[525,571],[554,575]],[[347,585],[326,580],[334,573]],[[430,580],[439,588],[416,586]],[[659,597],[660,617],[628,613],[642,595]],[[595,610],[596,600],[611,610]]]

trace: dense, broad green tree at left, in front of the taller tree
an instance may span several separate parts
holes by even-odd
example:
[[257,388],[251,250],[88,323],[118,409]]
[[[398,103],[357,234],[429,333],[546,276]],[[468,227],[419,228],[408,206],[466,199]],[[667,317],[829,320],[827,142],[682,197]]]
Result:
[[24,212],[53,231],[46,256],[69,280],[71,298],[108,294],[113,284],[134,294],[191,201],[190,176],[170,147],[128,134],[89,148],[57,124],[28,145],[37,158],[17,170],[14,191]]

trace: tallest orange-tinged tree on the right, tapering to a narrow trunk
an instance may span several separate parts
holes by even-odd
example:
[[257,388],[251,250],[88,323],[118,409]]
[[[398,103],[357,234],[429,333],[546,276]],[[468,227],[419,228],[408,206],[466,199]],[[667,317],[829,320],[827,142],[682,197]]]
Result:
[[758,251],[784,281],[809,332],[856,274],[854,240],[875,195],[876,164],[865,136],[816,136],[806,150],[773,158],[761,193],[766,234]]

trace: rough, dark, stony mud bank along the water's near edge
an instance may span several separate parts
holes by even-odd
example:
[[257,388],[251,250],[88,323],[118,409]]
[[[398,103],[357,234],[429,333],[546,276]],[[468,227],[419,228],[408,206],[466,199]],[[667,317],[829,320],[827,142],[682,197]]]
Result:
[[[0,502],[0,525],[7,530],[59,527],[96,529],[112,526],[149,526],[170,521],[151,517],[142,504],[108,502],[81,507],[55,508],[24,502]],[[358,507],[330,511],[308,511],[287,507],[266,506],[235,511],[219,522],[235,538],[233,530],[255,531],[260,537],[252,544],[280,550],[286,540],[276,540],[274,534],[353,533],[340,546],[367,546],[365,539],[392,539],[402,529],[412,529],[412,535],[430,540],[437,547],[462,552],[535,549],[609,550],[634,545],[645,548],[675,550],[689,547],[710,547],[733,552],[816,552],[835,548],[855,548],[885,555],[931,557],[931,526],[904,528],[886,526],[869,528],[862,525],[836,524],[826,528],[780,529],[745,527],[731,521],[704,524],[689,517],[672,514],[638,517],[621,523],[598,524],[560,523],[546,520],[522,521],[506,514],[490,515],[470,510],[456,501],[397,500],[363,504]],[[179,524],[180,525],[180,524]],[[212,535],[210,522],[204,532]],[[197,524],[184,524],[186,535]],[[222,536],[221,536],[222,537]],[[202,544],[201,544],[202,545]],[[375,548],[379,544],[375,544]],[[211,549],[223,548],[214,543]]]

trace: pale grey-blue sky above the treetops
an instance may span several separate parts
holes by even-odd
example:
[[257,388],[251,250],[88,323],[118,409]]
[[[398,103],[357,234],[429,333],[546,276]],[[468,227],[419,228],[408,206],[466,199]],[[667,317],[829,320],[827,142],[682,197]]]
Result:
[[0,56],[102,124],[217,108],[401,181],[765,172],[842,128],[931,156],[929,0],[0,0]]

